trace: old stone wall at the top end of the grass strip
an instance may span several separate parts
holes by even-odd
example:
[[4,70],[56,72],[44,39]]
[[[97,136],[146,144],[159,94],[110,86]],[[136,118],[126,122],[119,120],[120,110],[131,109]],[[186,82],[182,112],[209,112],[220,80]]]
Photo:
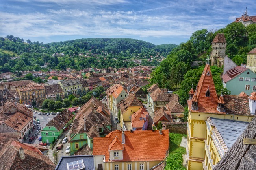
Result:
[[187,134],[187,122],[162,122],[163,129],[169,129],[170,133]]

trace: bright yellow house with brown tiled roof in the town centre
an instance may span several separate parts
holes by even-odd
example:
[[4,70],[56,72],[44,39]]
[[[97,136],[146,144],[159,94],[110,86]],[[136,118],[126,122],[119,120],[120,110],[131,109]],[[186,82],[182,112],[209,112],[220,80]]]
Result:
[[137,112],[140,108],[143,107],[141,101],[139,101],[134,94],[130,94],[124,100],[119,103],[120,107],[120,126],[123,130],[130,130],[132,114]]

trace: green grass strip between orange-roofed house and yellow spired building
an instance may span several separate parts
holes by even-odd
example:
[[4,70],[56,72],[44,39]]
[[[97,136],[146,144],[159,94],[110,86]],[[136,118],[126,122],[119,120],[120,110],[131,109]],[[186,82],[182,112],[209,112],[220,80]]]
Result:
[[169,133],[169,155],[166,158],[165,170],[186,170],[182,165],[182,154],[186,154],[186,148],[180,147],[183,135]]

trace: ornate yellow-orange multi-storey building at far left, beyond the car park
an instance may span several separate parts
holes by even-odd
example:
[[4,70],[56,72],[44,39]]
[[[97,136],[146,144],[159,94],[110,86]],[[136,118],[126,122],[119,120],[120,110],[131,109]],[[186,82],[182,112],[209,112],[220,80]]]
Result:
[[45,87],[35,82],[17,88],[17,93],[21,104],[31,104],[34,99],[45,99]]

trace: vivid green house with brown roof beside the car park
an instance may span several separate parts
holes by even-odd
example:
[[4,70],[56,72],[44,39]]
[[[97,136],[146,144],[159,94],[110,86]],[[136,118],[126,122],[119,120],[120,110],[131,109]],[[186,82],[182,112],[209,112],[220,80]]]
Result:
[[75,113],[69,110],[63,110],[61,114],[54,117],[48,122],[41,130],[42,142],[43,143],[54,143],[56,139],[69,128],[69,125],[74,121]]

